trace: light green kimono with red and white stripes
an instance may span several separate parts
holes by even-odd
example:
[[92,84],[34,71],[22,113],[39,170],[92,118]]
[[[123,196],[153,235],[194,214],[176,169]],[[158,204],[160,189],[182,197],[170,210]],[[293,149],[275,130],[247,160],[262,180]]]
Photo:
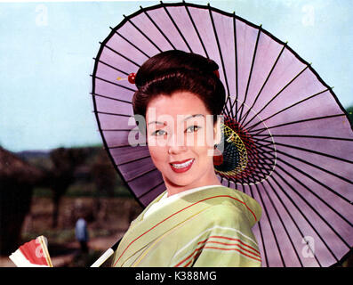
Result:
[[261,266],[251,230],[261,207],[253,198],[214,186],[174,199],[145,217],[164,193],[132,222],[113,266]]

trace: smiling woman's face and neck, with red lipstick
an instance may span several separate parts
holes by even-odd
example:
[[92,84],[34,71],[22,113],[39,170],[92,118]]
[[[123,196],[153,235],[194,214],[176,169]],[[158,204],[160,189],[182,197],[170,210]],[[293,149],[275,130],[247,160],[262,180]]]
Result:
[[148,149],[167,188],[180,191],[214,183],[217,126],[196,94],[156,96],[146,114]]

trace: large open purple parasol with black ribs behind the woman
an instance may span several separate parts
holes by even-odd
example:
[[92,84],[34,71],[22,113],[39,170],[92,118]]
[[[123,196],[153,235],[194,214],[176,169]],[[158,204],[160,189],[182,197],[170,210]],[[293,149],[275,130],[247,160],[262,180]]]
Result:
[[262,265],[328,266],[349,252],[352,127],[332,88],[287,43],[235,13],[182,2],[141,7],[100,44],[94,111],[109,157],[141,205],[165,187],[138,143],[136,88],[124,78],[156,53],[199,53],[219,64],[227,93],[215,170],[223,185],[261,204],[253,232]]

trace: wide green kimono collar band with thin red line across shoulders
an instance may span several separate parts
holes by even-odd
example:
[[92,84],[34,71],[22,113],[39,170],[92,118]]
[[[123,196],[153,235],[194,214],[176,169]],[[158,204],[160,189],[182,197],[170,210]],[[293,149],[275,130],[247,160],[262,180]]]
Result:
[[[148,205],[148,208],[159,201],[163,195],[164,193],[160,194]],[[183,196],[181,199],[175,199],[168,207],[155,211],[143,219],[144,214],[148,211],[148,208],[146,208],[133,221],[123,240],[121,240],[116,251],[114,265],[116,263],[124,264],[124,260],[147,246],[151,241],[156,240],[165,232],[185,222],[192,216],[196,216],[205,209],[221,204],[225,199],[229,199],[237,207],[241,208],[248,217],[250,224],[253,225],[259,220],[261,216],[259,204],[243,192],[224,186],[195,191]]]

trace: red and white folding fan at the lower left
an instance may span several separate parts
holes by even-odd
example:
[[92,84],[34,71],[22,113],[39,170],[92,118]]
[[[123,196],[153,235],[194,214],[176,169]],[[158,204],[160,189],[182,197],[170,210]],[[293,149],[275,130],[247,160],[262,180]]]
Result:
[[41,235],[35,240],[30,240],[20,246],[9,257],[18,267],[52,267],[47,244],[48,241]]

